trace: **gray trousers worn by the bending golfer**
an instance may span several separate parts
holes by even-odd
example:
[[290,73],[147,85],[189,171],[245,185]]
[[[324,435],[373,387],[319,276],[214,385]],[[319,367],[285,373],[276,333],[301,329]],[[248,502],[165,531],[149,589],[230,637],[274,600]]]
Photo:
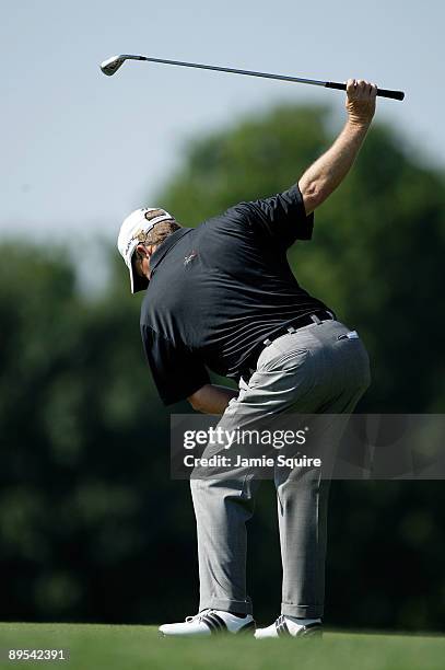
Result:
[[[285,334],[266,347],[249,380],[242,379],[219,423],[224,429],[268,414],[351,413],[370,384],[370,363],[359,338],[338,321]],[[332,444],[332,449],[336,446]],[[280,472],[279,472],[280,470]],[[319,617],[324,612],[329,480],[319,470],[276,469],[283,570],[281,613]],[[198,531],[199,610],[251,613],[246,593],[246,521],[259,482],[190,480]]]

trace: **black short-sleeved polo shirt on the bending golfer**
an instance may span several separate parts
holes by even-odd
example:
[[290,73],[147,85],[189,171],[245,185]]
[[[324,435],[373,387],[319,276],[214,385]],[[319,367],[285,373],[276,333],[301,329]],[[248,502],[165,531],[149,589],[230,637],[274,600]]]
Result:
[[181,228],[156,249],[141,334],[166,405],[209,383],[208,369],[238,380],[264,339],[327,309],[298,286],[286,259],[289,246],[309,240],[313,226],[294,185]]

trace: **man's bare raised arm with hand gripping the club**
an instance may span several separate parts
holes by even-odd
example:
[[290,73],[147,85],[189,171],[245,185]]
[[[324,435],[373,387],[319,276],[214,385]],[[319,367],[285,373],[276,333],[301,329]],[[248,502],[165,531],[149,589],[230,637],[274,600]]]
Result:
[[373,119],[376,93],[376,86],[367,81],[348,80],[344,128],[298,182],[307,215],[330,196],[350,171]]

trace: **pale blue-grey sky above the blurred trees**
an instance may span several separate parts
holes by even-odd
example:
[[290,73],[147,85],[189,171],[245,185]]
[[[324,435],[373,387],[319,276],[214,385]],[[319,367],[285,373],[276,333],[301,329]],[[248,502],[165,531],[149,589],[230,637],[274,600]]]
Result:
[[3,0],[0,238],[114,238],[132,209],[162,206],[185,140],[248,112],[331,104],[341,127],[338,91],[140,62],[104,77],[119,53],[402,89],[378,116],[445,165],[444,25],[440,0]]

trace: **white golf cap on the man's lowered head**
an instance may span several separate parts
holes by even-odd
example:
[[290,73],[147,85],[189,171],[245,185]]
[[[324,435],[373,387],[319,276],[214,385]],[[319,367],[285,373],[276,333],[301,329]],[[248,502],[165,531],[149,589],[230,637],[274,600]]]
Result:
[[143,244],[147,241],[147,233],[156,226],[156,223],[174,220],[175,217],[172,217],[165,209],[145,207],[132,211],[121,224],[117,239],[117,247],[130,272],[132,293],[142,291],[148,287],[148,280],[133,272],[131,257],[136,247],[138,244]]

